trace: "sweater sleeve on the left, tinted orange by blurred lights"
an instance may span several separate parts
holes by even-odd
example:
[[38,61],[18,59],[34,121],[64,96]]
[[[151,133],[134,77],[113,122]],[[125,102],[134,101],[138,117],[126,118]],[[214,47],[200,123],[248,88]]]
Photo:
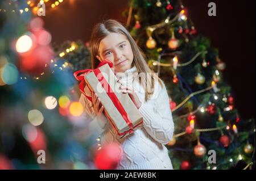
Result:
[[94,110],[92,108],[92,103],[86,99],[84,94],[81,94],[79,102],[82,104],[84,107],[85,111],[85,120],[89,120],[89,130],[90,133],[94,134],[95,136],[100,136],[100,134],[105,130],[106,128],[106,123],[108,120],[104,116],[104,120],[100,120],[97,118],[97,116],[94,113]]

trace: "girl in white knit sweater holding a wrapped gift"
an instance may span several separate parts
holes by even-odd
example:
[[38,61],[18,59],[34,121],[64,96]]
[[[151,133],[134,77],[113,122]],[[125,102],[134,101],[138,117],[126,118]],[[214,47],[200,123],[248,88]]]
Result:
[[[174,122],[163,81],[155,74],[151,74],[150,78],[140,74],[151,73],[151,70],[144,54],[121,23],[109,19],[96,24],[90,43],[92,69],[97,68],[104,59],[113,62],[119,89],[123,94],[129,94],[143,117],[142,128],[119,138],[102,113],[104,107],[97,94],[91,95],[88,87],[85,87],[85,94],[92,96],[92,102],[81,94],[80,103],[86,115],[92,118],[90,131],[100,135],[102,145],[117,142],[122,147],[123,153],[117,169],[172,169],[164,145],[172,140]],[[141,81],[136,81],[138,75],[141,75]],[[143,83],[146,86],[142,86]],[[150,88],[153,88],[152,91]]]

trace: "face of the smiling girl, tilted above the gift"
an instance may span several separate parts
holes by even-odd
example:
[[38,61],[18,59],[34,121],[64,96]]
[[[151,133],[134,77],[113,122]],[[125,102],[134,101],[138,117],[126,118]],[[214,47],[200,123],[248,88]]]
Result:
[[113,62],[115,72],[124,72],[131,68],[133,50],[125,35],[110,33],[101,40],[97,58]]

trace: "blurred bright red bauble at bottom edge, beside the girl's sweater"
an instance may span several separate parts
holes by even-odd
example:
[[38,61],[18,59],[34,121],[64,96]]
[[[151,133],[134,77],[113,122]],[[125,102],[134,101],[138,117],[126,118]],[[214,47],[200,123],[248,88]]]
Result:
[[116,169],[121,159],[122,149],[117,143],[105,145],[98,150],[95,158],[95,165],[97,169]]

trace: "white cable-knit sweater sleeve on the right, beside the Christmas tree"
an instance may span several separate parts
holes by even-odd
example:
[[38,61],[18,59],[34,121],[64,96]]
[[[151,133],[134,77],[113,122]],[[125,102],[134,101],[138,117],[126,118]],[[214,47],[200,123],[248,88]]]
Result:
[[166,87],[163,86],[155,99],[149,99],[139,108],[147,133],[164,145],[172,140],[174,134],[174,121],[168,100]]

